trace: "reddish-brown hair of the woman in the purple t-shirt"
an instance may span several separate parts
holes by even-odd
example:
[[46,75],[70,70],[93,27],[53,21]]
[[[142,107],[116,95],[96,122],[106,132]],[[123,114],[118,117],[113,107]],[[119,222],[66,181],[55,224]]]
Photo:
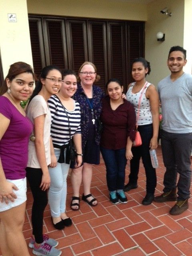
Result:
[[8,74],[4,79],[2,86],[0,87],[0,95],[3,95],[8,90],[6,79],[8,78],[10,81],[12,81],[16,76],[22,73],[30,73],[32,74],[33,79],[36,79],[33,69],[29,64],[21,61],[15,62],[10,66]]

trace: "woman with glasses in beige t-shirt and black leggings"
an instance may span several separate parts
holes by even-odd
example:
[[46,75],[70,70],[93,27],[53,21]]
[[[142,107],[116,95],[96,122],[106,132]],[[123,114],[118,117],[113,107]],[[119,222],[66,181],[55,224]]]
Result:
[[32,206],[32,237],[29,247],[33,254],[41,256],[60,256],[61,251],[54,248],[58,241],[43,234],[43,214],[48,203],[47,189],[50,186],[48,166],[51,164],[50,128],[51,113],[47,101],[57,94],[62,84],[62,74],[56,66],[42,69],[30,98],[27,115],[34,124],[34,132],[29,142],[29,158],[26,168],[27,178],[34,198]]

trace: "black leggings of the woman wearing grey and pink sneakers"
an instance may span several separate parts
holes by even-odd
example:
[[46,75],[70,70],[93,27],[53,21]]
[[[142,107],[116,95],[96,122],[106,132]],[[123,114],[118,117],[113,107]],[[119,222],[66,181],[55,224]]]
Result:
[[42,180],[42,170],[40,168],[27,167],[26,177],[34,200],[31,216],[33,235],[35,236],[35,242],[41,244],[43,242],[43,213],[48,203],[47,190],[43,191],[40,188]]

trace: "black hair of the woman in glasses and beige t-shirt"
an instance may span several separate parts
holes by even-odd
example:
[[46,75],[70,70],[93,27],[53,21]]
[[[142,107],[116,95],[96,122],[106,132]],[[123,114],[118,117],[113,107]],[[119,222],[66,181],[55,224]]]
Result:
[[[30,100],[29,100],[29,103],[31,102],[32,98],[34,98],[34,97],[40,92],[40,90],[42,89],[41,78],[44,78],[44,79],[45,79],[46,76],[48,75],[48,73],[49,73],[51,70],[58,70],[58,71],[61,73],[61,75],[62,75],[62,72],[61,72],[60,68],[58,68],[57,66],[50,65],[50,66],[44,67],[44,68],[42,69],[41,74],[40,74],[39,80],[36,82],[36,86],[35,86],[35,89],[34,89],[34,91],[33,91],[33,93],[32,93],[32,96],[31,96],[31,98],[30,98]],[[29,104],[29,103],[28,103],[28,104]]]

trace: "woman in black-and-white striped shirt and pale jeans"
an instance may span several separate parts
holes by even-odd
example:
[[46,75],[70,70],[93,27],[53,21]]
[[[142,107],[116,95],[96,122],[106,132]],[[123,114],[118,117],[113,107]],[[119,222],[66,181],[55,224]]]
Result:
[[[80,106],[71,97],[77,90],[76,74],[72,70],[62,72],[62,87],[57,95],[51,96],[48,105],[52,115],[51,177],[48,200],[51,209],[52,223],[56,229],[70,226],[72,221],[65,213],[67,182],[66,178],[70,167],[67,147],[70,137],[73,138],[77,150],[76,167],[82,164],[82,145],[80,128]],[[69,130],[70,127],[70,130]]]

